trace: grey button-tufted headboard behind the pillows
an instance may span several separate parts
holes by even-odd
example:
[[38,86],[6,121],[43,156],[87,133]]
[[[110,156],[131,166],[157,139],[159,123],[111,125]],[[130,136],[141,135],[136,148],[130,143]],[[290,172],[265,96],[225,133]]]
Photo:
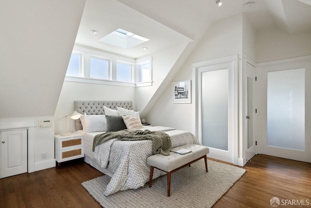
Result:
[[[117,110],[117,107],[133,110],[132,101],[97,101],[97,100],[75,100],[74,111],[87,115],[104,115],[104,107]],[[75,120],[76,131],[82,130],[80,119]]]

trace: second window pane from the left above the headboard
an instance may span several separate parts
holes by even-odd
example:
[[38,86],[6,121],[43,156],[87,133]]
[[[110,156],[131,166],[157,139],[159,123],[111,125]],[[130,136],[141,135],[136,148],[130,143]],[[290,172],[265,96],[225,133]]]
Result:
[[98,57],[90,57],[89,77],[109,79],[109,60]]

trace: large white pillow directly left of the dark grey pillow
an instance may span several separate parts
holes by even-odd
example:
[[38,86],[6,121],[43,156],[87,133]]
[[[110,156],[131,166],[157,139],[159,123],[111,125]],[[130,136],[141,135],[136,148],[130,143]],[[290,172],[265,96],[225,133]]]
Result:
[[83,131],[88,132],[105,132],[107,130],[107,121],[105,115],[84,115],[85,126]]

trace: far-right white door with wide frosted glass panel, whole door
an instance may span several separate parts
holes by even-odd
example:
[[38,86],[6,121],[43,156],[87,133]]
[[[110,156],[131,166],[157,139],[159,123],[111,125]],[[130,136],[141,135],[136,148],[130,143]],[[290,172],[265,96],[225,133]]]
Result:
[[310,77],[310,60],[262,66],[257,71],[262,154],[311,162]]

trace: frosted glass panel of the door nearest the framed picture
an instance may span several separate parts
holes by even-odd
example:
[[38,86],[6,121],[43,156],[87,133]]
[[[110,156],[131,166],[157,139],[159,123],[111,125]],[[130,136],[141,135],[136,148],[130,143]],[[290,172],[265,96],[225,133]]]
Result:
[[228,151],[228,69],[202,73],[202,144]]

